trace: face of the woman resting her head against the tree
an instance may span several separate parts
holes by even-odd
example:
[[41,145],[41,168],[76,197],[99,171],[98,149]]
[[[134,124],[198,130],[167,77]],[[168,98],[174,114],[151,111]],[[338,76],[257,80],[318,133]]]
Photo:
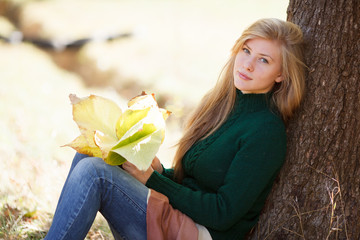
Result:
[[234,84],[242,93],[267,93],[281,82],[280,45],[272,40],[247,40],[236,54]]

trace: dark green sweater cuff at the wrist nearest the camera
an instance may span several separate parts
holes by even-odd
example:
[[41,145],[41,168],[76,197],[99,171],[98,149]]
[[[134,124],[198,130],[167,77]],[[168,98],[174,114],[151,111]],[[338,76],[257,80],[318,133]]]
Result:
[[180,187],[179,184],[156,171],[151,174],[145,185],[166,196],[176,194]]

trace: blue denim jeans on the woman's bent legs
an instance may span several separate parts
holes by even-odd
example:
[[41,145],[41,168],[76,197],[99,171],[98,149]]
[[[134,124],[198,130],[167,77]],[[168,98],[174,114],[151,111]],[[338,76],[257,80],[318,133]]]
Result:
[[45,239],[84,239],[98,211],[122,239],[146,239],[148,192],[120,167],[77,153]]

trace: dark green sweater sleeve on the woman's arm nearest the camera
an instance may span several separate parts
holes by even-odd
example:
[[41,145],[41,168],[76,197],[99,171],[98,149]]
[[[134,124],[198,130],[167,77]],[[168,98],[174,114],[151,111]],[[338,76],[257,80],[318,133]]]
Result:
[[262,208],[283,164],[285,152],[283,125],[267,123],[241,140],[241,147],[217,192],[194,191],[156,172],[146,185],[166,195],[174,208],[195,222],[225,231],[250,210]]

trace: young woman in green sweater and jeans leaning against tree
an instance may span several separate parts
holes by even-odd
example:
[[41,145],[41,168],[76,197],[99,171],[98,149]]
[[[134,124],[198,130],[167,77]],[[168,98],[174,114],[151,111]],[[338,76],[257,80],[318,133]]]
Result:
[[298,26],[252,24],[190,116],[174,168],[157,158],[147,171],[119,168],[77,154],[46,239],[83,239],[98,211],[122,239],[243,239],[285,159],[302,58]]

